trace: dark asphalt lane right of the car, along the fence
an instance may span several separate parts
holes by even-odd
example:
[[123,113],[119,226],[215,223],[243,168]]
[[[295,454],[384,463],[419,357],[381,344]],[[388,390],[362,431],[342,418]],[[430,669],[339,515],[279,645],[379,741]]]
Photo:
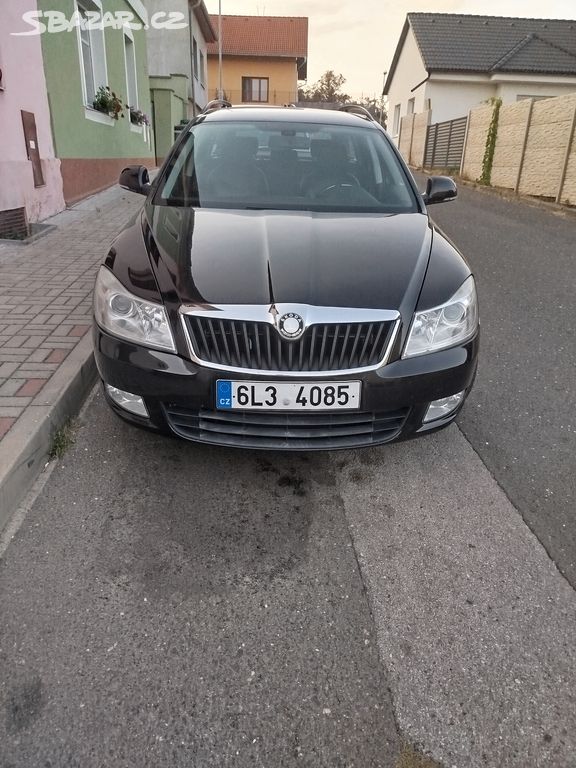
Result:
[[576,587],[576,215],[466,186],[430,212],[480,294],[460,429]]

